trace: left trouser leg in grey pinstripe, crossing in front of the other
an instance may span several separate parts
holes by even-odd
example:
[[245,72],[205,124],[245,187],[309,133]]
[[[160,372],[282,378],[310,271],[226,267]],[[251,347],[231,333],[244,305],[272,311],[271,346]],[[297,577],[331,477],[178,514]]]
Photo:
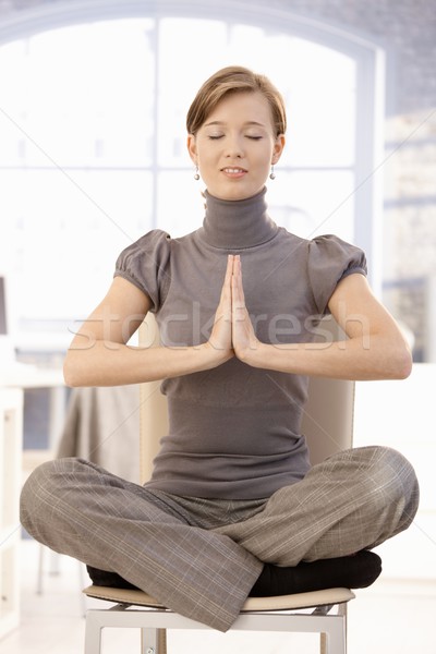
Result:
[[81,459],[44,463],[21,497],[22,523],[37,541],[116,571],[169,608],[226,631],[263,566],[189,518],[183,506]]

